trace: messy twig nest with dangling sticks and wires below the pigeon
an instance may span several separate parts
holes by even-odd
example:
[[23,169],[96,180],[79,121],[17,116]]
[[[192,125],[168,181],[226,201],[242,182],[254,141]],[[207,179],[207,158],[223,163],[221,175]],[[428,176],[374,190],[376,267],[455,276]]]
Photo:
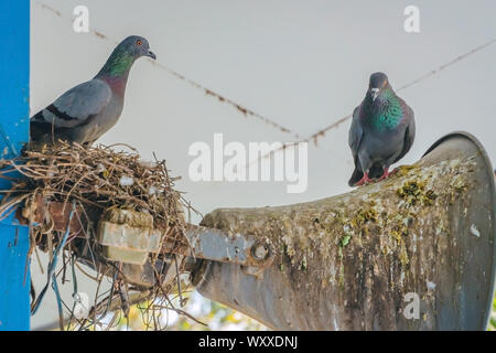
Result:
[[[17,159],[0,161],[0,176],[12,182],[10,190],[1,191],[4,196],[0,204],[0,218],[18,210],[17,218],[24,220],[30,225],[30,255],[37,249],[50,253],[47,284],[37,296],[32,290],[33,312],[52,282],[58,300],[61,329],[91,328],[109,310],[119,309],[116,308],[116,302],[122,309],[118,310],[119,314],[127,317],[131,304],[143,301],[148,303],[144,308],[147,317],[154,322],[150,327],[160,329],[157,327],[157,318],[152,318],[150,313],[155,312],[155,306],[175,309],[169,296],[175,293],[182,297],[180,274],[184,261],[179,261],[175,255],[171,255],[171,249],[187,245],[184,235],[185,211],[188,214],[194,211],[183,194],[174,190],[177,178],[169,175],[165,161],[155,158],[152,163],[142,162],[137,150],[126,145],[83,147],[60,142],[39,150],[24,150]],[[50,204],[58,205],[58,214],[64,218],[63,229],[56,227],[61,220],[55,220]],[[40,212],[40,208],[43,211]],[[169,278],[169,285],[164,286],[164,272],[155,270],[153,287],[143,291],[127,282],[121,272],[121,263],[101,257],[101,246],[96,240],[97,225],[91,220],[106,215],[111,218],[116,210],[138,213],[152,221],[153,229],[160,232],[162,242],[168,243],[168,253],[161,247],[159,253],[149,255],[148,263],[154,266],[155,261],[161,260],[163,267],[173,264],[175,280],[171,281]],[[71,227],[76,221],[82,226],[74,232]],[[63,257],[63,270],[56,271],[58,257]],[[171,257],[174,261],[171,261]],[[79,267],[79,263],[93,263],[91,267],[97,276],[88,276],[97,281],[101,281],[104,277],[110,278],[112,286],[107,296],[97,296],[105,298],[95,301],[89,315],[83,320],[75,319],[76,315],[71,312],[72,306],[65,306],[71,312],[72,321],[68,324],[61,309],[65,303],[61,302],[58,296],[57,277],[66,276],[67,266],[73,268],[74,276],[74,267]],[[85,272],[80,267],[79,269]],[[62,278],[63,282],[65,280]],[[134,296],[131,296],[133,291]],[[158,312],[160,315],[160,311]]]

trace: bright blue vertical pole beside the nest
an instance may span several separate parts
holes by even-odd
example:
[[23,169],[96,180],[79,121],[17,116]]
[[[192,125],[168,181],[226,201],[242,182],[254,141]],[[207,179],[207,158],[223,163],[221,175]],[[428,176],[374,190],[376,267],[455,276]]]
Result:
[[[29,139],[30,0],[0,0],[0,158]],[[9,189],[0,180],[0,189]],[[0,223],[0,331],[30,329],[28,227]]]

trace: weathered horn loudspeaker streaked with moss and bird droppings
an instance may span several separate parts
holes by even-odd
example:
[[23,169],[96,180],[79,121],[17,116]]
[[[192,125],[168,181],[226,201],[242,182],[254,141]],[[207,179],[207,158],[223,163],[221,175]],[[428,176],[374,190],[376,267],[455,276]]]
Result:
[[[478,142],[452,135],[414,165],[347,194],[207,214],[202,225],[255,235],[276,258],[259,277],[205,263],[194,284],[280,330],[484,329],[494,220],[490,163]],[[418,319],[403,314],[414,313],[410,292]]]

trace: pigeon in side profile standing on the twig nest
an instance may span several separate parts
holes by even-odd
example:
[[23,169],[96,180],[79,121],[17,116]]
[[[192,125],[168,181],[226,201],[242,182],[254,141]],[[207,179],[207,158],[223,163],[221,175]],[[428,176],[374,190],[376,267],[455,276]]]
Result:
[[125,39],[93,79],[71,88],[31,118],[31,142],[34,146],[58,140],[84,146],[95,142],[119,119],[129,72],[141,56],[157,58],[144,38]]

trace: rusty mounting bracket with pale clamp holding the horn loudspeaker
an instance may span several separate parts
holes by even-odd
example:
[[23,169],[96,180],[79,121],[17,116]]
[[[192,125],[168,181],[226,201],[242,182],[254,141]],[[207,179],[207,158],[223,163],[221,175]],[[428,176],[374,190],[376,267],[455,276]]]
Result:
[[[21,224],[26,224],[28,220],[43,222],[43,214],[48,212],[53,229],[65,231],[68,226],[69,211],[68,205],[64,206],[57,202],[45,203],[40,196],[33,204],[20,210],[18,218]],[[86,213],[86,217],[82,216],[83,213],[83,210],[76,210],[78,216],[73,217],[71,232],[78,233],[86,228],[88,221],[97,223],[96,242],[103,247],[103,257],[125,264],[123,275],[141,287],[152,286],[154,271],[158,270],[157,264],[153,266],[149,261],[150,253],[175,254],[191,258],[190,263],[205,259],[241,265],[247,274],[254,276],[262,274],[274,258],[270,244],[254,235],[230,235],[218,229],[188,224],[185,232],[188,244],[177,246],[172,240],[162,242],[161,232],[153,229],[153,220],[148,214],[118,208],[104,215]],[[91,220],[87,220],[87,216]]]

